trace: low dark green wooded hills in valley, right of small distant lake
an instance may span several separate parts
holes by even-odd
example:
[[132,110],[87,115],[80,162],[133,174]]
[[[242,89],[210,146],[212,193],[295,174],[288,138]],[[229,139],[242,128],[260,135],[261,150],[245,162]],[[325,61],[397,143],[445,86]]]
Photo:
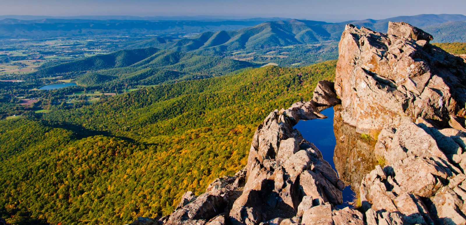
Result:
[[134,87],[225,75],[252,66],[245,61],[150,47],[44,64],[29,76],[63,76],[83,86],[114,89],[123,84]]

